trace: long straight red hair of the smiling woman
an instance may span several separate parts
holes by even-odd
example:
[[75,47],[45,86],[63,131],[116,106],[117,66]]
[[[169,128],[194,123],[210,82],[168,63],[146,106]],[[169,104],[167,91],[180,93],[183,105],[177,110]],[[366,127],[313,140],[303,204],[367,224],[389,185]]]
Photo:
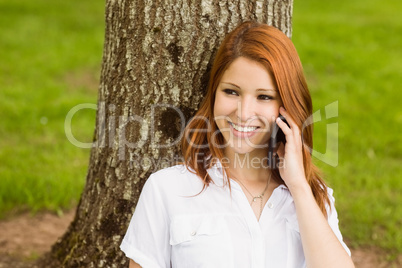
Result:
[[[213,116],[215,93],[223,73],[238,57],[259,62],[273,74],[283,106],[303,130],[305,175],[318,206],[326,215],[326,205],[329,205],[327,187],[310,154],[313,148],[313,126],[311,124],[303,126],[313,109],[303,67],[292,41],[272,26],[244,22],[225,37],[215,56],[206,97],[185,129],[182,139],[185,165],[203,180],[203,190],[208,187],[212,181],[207,172],[208,168],[215,164],[216,159],[224,157],[222,148],[213,146],[213,144],[224,144],[223,136],[219,133]],[[224,169],[228,174],[227,167],[224,166]],[[271,171],[276,181],[284,183],[278,169]],[[226,183],[230,187],[230,182]]]

